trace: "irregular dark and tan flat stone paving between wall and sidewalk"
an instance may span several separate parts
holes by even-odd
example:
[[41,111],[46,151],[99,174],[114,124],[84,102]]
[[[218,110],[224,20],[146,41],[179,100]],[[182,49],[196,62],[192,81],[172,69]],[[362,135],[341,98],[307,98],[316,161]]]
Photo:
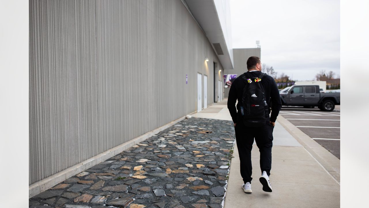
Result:
[[30,208],[221,208],[232,121],[180,121],[29,200]]

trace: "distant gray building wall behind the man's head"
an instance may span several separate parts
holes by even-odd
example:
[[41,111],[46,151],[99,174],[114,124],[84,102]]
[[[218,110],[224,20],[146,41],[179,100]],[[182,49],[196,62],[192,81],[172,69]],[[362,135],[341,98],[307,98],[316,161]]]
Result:
[[[247,71],[247,59],[250,56],[261,58],[261,48],[233,48],[234,69],[224,70],[224,74],[237,74],[237,77]],[[223,81],[224,83],[224,81]],[[228,97],[230,88],[224,88],[224,97]]]

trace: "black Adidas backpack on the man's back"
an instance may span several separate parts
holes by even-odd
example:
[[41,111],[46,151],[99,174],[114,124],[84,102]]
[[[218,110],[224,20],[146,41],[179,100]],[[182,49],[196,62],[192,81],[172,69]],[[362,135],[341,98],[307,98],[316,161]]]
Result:
[[265,75],[265,73],[261,73],[259,77],[251,77],[251,74],[246,72],[240,76],[246,83],[240,103],[242,121],[245,126],[263,126],[268,118],[268,104],[266,103],[264,88],[261,84]]

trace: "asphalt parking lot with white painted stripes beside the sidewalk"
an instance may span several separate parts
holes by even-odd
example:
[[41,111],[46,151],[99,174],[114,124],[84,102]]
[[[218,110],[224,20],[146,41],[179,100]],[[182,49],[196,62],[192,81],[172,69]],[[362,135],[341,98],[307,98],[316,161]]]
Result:
[[325,112],[315,108],[282,107],[282,115],[293,125],[340,158],[340,109]]

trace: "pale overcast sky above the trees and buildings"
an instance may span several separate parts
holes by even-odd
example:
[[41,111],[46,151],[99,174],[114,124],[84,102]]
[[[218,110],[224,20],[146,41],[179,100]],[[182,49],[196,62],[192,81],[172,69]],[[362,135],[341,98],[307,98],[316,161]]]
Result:
[[230,6],[233,48],[255,48],[260,40],[261,62],[293,80],[313,80],[321,70],[339,75],[339,0],[230,0]]

